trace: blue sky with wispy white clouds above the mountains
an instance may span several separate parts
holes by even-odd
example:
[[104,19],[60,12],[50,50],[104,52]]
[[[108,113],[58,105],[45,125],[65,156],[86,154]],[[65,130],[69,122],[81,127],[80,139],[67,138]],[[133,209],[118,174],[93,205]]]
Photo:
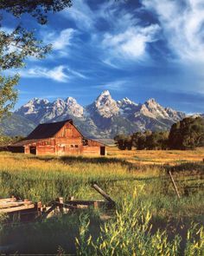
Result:
[[[12,29],[15,18],[5,18],[3,27]],[[116,100],[153,97],[204,113],[203,0],[73,0],[45,26],[30,16],[21,22],[53,51],[19,70],[16,108],[33,97],[73,96],[86,105],[108,89]]]

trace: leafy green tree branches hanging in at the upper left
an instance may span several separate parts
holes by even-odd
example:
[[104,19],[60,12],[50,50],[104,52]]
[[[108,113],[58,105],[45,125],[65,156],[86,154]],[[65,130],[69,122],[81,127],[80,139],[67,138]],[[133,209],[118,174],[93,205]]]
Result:
[[[63,10],[71,4],[71,0],[1,0],[0,17],[3,20],[3,11],[7,11],[22,22],[22,14],[28,13],[43,25],[48,22],[48,13]],[[10,32],[0,30],[0,118],[13,108],[19,81],[19,75],[6,77],[3,72],[22,68],[28,56],[43,58],[50,50],[51,45],[43,45],[35,38],[34,31],[24,29],[20,23]]]

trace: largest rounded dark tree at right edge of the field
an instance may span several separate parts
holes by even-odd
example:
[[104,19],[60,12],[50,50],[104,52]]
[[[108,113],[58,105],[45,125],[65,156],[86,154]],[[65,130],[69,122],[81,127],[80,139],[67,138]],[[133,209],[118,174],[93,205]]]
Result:
[[193,149],[204,146],[204,119],[187,117],[173,124],[169,133],[169,148]]

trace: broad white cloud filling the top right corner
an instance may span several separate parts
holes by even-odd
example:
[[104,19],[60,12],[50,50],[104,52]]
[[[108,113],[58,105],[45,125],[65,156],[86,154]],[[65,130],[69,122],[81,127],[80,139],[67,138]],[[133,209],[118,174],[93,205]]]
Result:
[[204,62],[203,0],[143,0],[156,13],[169,49],[184,61]]

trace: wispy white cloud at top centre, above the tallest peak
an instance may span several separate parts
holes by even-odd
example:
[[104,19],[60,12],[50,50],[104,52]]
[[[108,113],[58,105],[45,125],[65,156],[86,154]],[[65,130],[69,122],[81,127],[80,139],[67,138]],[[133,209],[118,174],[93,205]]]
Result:
[[[159,31],[157,24],[139,24],[134,11],[125,7],[126,3],[110,1],[91,10],[86,1],[76,0],[71,9],[61,13],[72,19],[79,30],[90,33],[92,46],[99,49],[102,62],[113,67],[118,66],[115,63],[118,59],[135,61],[147,56],[147,43],[155,41]],[[107,23],[106,31],[98,28],[103,22]]]

